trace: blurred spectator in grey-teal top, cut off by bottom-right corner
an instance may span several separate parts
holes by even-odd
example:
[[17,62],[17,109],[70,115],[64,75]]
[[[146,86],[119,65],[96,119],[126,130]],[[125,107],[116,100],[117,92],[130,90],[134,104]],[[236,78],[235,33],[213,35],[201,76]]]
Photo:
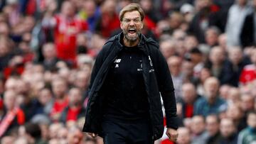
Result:
[[252,111],[248,114],[247,128],[240,131],[238,135],[238,144],[250,144],[256,142],[256,112]]

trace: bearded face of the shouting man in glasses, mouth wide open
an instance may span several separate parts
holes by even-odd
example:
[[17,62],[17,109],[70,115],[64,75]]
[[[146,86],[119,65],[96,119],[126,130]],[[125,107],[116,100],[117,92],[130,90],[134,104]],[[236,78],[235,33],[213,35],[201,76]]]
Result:
[[122,18],[121,21],[121,28],[124,33],[124,38],[129,41],[136,41],[143,28],[139,11],[124,13],[124,18]]

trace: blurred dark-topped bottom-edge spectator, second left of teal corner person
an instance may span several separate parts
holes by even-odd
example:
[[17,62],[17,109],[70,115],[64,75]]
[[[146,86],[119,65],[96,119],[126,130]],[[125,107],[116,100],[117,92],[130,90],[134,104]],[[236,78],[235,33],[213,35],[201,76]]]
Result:
[[206,131],[209,134],[208,144],[220,143],[220,120],[217,115],[208,115],[206,117]]

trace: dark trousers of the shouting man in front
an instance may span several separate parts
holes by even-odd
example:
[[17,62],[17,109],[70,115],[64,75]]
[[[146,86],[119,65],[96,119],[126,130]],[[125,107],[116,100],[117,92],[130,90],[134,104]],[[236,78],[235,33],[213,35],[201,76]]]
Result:
[[104,144],[153,144],[150,123],[144,121],[117,121],[105,119],[102,122]]

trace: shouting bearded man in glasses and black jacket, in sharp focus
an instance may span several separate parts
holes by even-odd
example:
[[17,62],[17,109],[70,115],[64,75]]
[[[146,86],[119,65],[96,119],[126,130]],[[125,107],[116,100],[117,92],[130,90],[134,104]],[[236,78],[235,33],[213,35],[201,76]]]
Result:
[[92,70],[83,131],[105,144],[154,143],[164,132],[161,95],[166,135],[176,140],[174,85],[159,46],[141,33],[144,12],[129,4],[119,18],[122,33],[104,45]]

